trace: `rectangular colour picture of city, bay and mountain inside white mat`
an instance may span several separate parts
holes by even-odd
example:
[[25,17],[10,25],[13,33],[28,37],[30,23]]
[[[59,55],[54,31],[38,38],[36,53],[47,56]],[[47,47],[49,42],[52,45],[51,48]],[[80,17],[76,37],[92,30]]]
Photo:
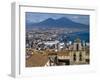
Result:
[[90,63],[89,15],[26,12],[26,67]]

